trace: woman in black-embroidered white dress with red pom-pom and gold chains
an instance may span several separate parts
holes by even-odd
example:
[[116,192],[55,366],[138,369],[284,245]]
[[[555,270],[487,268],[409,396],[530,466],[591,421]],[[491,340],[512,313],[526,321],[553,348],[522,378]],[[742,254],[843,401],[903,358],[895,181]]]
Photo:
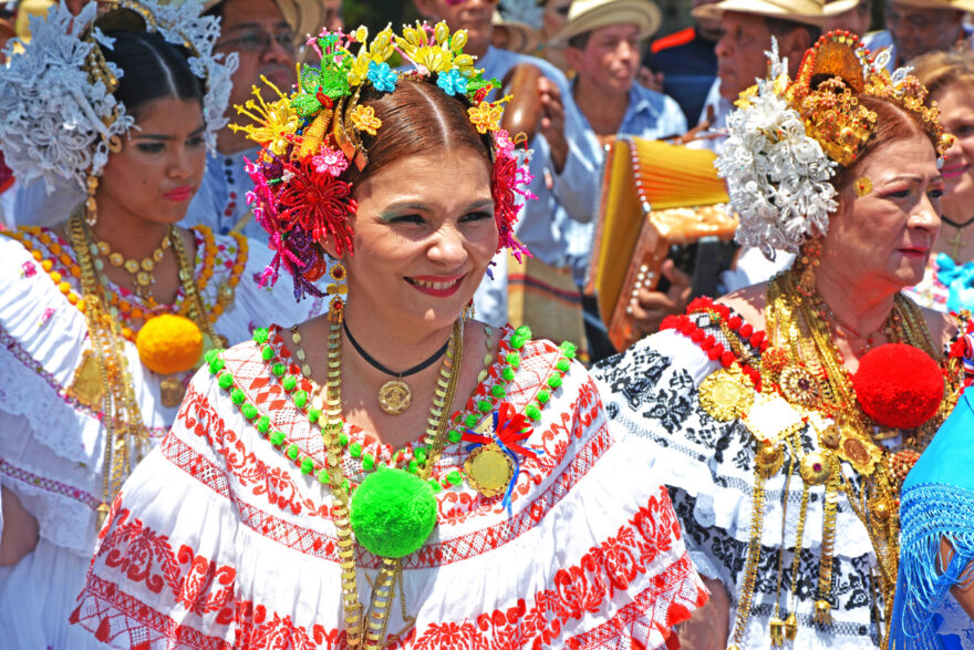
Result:
[[901,293],[936,239],[950,138],[920,82],[848,32],[794,81],[773,50],[717,167],[738,240],[795,264],[597,376],[713,591],[685,646],[887,648],[900,485],[964,381],[957,321]]

